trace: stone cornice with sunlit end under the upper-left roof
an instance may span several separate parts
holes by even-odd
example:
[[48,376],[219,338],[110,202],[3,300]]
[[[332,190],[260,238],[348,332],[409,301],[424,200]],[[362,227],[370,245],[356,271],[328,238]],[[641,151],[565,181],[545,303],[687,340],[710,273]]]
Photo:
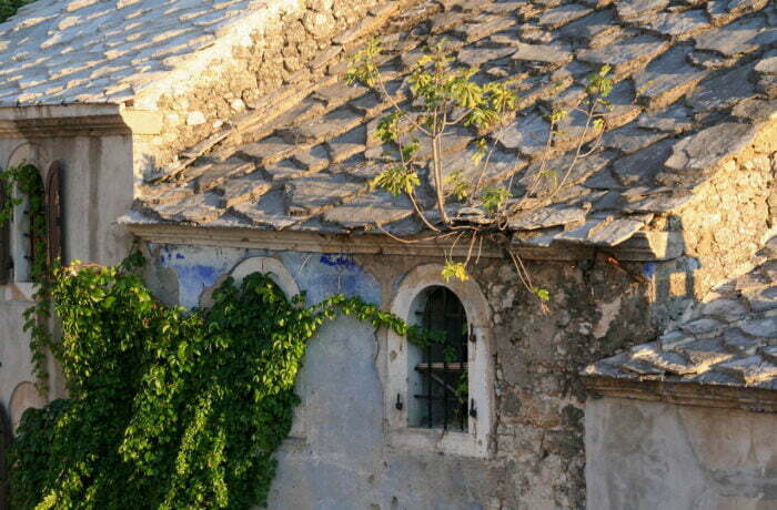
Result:
[[0,139],[153,135],[161,128],[157,112],[115,104],[0,108]]

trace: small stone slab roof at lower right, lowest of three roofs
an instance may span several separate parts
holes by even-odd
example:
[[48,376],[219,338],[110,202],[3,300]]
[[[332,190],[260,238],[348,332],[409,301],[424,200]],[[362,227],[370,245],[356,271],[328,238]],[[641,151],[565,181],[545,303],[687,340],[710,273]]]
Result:
[[760,255],[759,266],[713,290],[690,319],[583,375],[777,390],[777,237]]

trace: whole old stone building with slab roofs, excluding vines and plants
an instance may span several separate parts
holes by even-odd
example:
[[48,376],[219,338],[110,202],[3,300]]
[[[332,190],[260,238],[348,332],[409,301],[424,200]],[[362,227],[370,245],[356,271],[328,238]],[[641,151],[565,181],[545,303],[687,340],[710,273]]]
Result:
[[[39,0],[0,24],[0,166],[46,176],[56,163],[64,258],[113,264],[138,242],[165,303],[206,306],[225,277],[261,271],[311,303],[343,292],[468,333],[441,373],[400,337],[329,324],[299,379],[273,508],[768,508],[774,461],[737,460],[748,455],[737,441],[768,442],[777,425],[764,261],[777,218],[776,27],[766,0]],[[441,38],[478,79],[518,80],[517,114],[487,134],[486,178],[515,197],[543,159],[563,169],[591,136],[564,192],[511,223],[549,313],[501,253],[445,282],[444,243],[382,233],[423,238],[424,226],[405,198],[367,190],[391,101],[344,75],[373,37],[387,93],[408,108],[410,70]],[[577,104],[603,64],[616,82],[604,135],[573,113],[546,146],[547,113]],[[446,139],[447,171],[472,172],[477,135]],[[42,397],[21,332],[23,222],[6,241],[0,402],[16,421]],[[761,282],[733,279],[758,264]],[[463,405],[430,389],[451,370],[467,376]],[[723,429],[741,436],[693,465],[693,483],[664,482],[664,467],[690,471],[687,443],[709,449]],[[698,492],[710,479],[719,490]]]

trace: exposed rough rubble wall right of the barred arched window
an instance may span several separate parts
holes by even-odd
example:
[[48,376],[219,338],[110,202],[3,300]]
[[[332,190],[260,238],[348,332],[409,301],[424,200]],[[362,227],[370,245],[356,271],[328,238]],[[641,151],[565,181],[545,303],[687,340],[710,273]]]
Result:
[[[645,267],[630,264],[642,274]],[[512,473],[498,508],[584,508],[584,389],[578,373],[605,353],[657,332],[652,284],[595,258],[529,263],[536,285],[551,290],[543,314],[506,265],[485,265],[497,353],[496,458]]]

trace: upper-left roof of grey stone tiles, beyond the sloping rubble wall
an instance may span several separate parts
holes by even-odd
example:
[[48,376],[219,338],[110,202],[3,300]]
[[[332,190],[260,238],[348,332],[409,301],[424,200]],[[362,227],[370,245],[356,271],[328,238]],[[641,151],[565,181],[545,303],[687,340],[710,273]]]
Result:
[[289,3],[37,0],[0,23],[0,106],[155,99]]

